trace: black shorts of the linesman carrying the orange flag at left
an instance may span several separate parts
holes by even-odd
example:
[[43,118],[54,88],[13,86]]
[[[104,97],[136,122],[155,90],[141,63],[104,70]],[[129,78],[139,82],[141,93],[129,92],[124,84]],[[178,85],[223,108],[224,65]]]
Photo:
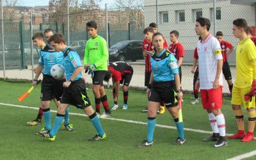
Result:
[[64,82],[65,80],[57,80],[52,76],[44,74],[41,86],[41,100],[52,100],[52,97],[60,100],[63,93]]

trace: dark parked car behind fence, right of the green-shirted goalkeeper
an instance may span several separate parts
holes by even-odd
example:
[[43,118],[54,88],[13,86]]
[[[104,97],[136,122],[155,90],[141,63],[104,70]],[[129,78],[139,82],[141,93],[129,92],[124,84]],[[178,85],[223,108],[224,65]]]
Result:
[[125,40],[109,48],[109,61],[143,60],[142,40]]

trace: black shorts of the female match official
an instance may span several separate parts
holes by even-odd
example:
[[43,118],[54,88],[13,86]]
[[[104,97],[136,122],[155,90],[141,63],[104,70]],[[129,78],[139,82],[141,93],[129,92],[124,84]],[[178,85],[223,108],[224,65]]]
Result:
[[175,81],[153,82],[148,101],[164,102],[166,108],[178,105],[177,93],[174,91]]

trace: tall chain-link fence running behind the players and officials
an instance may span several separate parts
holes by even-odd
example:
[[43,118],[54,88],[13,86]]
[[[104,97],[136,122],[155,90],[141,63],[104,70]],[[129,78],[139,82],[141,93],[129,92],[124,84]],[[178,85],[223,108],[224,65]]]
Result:
[[[86,22],[95,20],[98,24],[99,35],[108,39],[109,61],[127,61],[134,69],[134,76],[130,86],[134,88],[144,87],[145,61],[142,56],[142,41],[144,39],[143,29],[151,22],[156,22],[157,29],[161,32],[168,45],[170,45],[169,34],[172,30],[179,31],[179,42],[184,46],[185,55],[182,62],[182,89],[193,90],[193,52],[196,47],[198,36],[195,33],[195,19],[205,17],[211,20],[210,32],[223,32],[224,40],[234,45],[235,50],[228,58],[232,81],[236,77],[236,45],[237,38],[232,35],[232,21],[234,19],[246,19],[248,25],[255,34],[255,2],[216,0],[213,1],[157,1],[144,0],[144,6],[110,7],[101,10],[74,10],[70,6],[69,28],[67,28],[67,12],[62,14],[52,13],[49,22],[36,24],[38,15],[33,15],[33,26],[29,20],[24,22],[11,22],[4,19],[4,55],[2,52],[2,40],[0,40],[0,76],[3,77],[3,61],[5,61],[5,77],[13,79],[33,79],[31,75],[31,28],[33,34],[46,28],[52,28],[55,32],[69,33],[69,44],[75,49],[81,60],[84,57],[84,46],[90,38],[86,31]],[[67,5],[66,5],[67,6]],[[63,6],[64,7],[64,6]],[[214,23],[214,8],[216,8],[216,21]],[[65,11],[66,9],[63,8]],[[106,20],[108,12],[108,20]],[[41,16],[45,19],[45,15]],[[17,20],[16,20],[17,21]],[[108,35],[108,37],[107,37]],[[111,49],[112,48],[112,49]],[[113,50],[113,48],[115,48]],[[118,48],[118,49],[116,49]],[[38,61],[38,52],[33,47],[35,65]],[[124,52],[125,51],[125,52]],[[92,80],[88,76],[88,82]],[[224,82],[223,92],[228,93],[228,85]]]

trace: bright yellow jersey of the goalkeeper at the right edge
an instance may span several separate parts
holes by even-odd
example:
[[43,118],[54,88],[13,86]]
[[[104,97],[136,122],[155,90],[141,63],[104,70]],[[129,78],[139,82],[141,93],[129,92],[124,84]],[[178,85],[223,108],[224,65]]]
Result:
[[253,68],[256,69],[256,47],[250,36],[241,40],[236,49],[236,82],[237,88],[252,86]]

